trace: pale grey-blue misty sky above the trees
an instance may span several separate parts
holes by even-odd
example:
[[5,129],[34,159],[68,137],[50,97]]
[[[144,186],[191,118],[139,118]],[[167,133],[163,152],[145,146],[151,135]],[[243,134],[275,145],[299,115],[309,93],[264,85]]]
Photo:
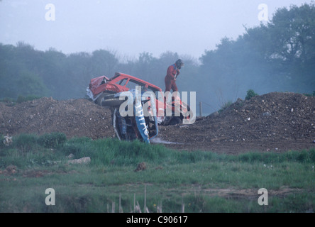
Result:
[[[221,38],[236,39],[243,26],[259,26],[258,9],[301,6],[306,0],[2,0],[0,43],[24,41],[36,50],[66,54],[113,50],[138,57],[172,51],[199,58]],[[55,6],[55,21],[48,4]],[[48,16],[48,17],[47,17]]]

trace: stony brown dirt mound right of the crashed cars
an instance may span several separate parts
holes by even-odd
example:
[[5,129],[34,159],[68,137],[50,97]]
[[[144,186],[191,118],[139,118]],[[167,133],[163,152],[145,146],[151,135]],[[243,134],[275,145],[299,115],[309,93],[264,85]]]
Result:
[[[238,99],[221,114],[193,125],[161,128],[167,141],[207,150],[284,150],[314,147],[315,97],[270,93]],[[174,146],[174,145],[170,145]]]

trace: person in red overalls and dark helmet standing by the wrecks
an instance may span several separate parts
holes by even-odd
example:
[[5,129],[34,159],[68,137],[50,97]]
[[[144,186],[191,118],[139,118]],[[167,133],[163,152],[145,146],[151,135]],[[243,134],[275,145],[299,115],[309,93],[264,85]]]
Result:
[[173,92],[178,92],[176,79],[179,75],[179,70],[184,66],[184,62],[182,60],[177,60],[175,64],[170,65],[167,68],[167,74],[165,76],[165,92],[170,92],[172,89]]

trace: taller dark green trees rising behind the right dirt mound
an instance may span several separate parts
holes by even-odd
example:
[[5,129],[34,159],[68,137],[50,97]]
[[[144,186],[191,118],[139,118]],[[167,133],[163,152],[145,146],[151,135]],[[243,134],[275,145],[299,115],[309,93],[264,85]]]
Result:
[[223,38],[200,57],[197,91],[208,98],[205,102],[215,104],[221,96],[237,99],[249,88],[259,94],[314,91],[313,3],[278,9],[270,23],[245,29],[236,40]]

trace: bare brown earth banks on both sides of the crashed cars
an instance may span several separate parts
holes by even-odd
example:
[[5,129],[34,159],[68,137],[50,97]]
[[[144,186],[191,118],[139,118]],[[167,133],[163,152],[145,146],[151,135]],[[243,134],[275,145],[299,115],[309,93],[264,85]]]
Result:
[[[238,99],[192,125],[160,126],[158,139],[178,150],[216,153],[284,152],[315,148],[315,97],[269,93]],[[111,111],[87,99],[0,103],[0,134],[62,132],[68,138],[114,138]]]

